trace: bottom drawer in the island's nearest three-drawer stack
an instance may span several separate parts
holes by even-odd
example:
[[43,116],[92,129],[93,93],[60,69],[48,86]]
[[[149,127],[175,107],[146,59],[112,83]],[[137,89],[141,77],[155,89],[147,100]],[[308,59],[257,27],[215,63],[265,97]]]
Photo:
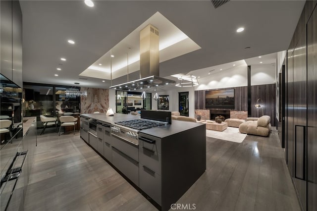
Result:
[[139,187],[161,205],[161,176],[142,164],[140,164],[139,171]]

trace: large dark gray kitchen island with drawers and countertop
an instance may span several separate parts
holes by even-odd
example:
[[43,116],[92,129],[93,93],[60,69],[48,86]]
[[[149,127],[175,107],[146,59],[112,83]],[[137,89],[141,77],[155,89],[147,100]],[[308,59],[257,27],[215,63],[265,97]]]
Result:
[[[206,170],[205,124],[173,120],[172,124],[139,131],[136,145],[111,134],[110,128],[117,121],[139,116],[119,113],[81,116],[88,124],[91,119],[98,123],[97,145],[90,144],[91,136],[86,143],[160,210],[169,210]],[[83,129],[81,137],[87,139],[89,125]]]

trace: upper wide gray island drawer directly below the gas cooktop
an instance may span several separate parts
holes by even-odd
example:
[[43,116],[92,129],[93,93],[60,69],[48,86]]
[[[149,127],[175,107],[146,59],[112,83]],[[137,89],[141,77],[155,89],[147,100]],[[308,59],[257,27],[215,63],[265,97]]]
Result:
[[139,147],[134,145],[124,139],[111,135],[111,146],[115,147],[117,150],[121,151],[123,154],[129,156],[130,158],[139,161]]

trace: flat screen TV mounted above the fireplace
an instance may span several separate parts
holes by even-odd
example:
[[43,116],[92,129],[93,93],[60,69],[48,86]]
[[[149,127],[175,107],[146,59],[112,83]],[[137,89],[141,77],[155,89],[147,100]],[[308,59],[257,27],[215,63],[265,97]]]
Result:
[[206,108],[234,109],[234,89],[206,91]]

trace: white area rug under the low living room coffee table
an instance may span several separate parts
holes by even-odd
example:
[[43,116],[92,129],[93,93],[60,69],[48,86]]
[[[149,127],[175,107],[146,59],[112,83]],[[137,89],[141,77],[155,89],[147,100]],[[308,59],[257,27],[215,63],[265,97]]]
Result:
[[237,127],[227,127],[224,131],[206,130],[206,136],[241,143],[247,137],[247,134],[240,133]]

